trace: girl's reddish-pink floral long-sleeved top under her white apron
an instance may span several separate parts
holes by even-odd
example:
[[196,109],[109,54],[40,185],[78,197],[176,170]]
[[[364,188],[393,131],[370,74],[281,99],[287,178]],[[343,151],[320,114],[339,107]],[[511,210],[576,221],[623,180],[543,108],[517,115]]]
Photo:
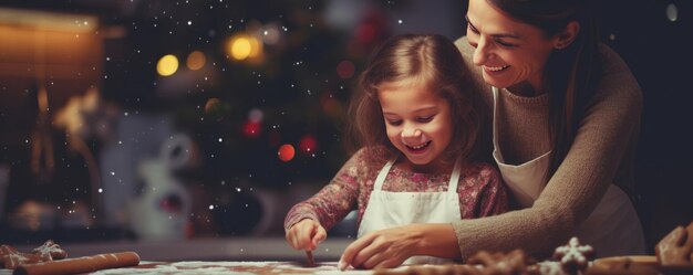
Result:
[[[303,219],[319,221],[325,230],[330,230],[354,209],[359,211],[360,225],[375,178],[384,165],[368,167],[364,150],[358,151],[328,186],[289,210],[285,230]],[[443,192],[447,191],[449,177],[449,173],[417,173],[393,166],[383,182],[383,191]],[[457,193],[462,219],[496,215],[508,210],[507,191],[498,171],[488,163],[476,162],[463,169]]]

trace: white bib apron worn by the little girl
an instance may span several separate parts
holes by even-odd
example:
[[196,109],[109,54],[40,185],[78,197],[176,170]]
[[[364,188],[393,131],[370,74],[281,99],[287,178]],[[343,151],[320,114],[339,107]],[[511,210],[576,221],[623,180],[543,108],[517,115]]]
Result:
[[[412,223],[451,223],[462,220],[459,214],[459,160],[455,162],[446,192],[387,192],[383,182],[394,163],[390,160],[375,179],[371,198],[365,207],[359,237],[369,232]],[[443,264],[452,260],[432,256],[413,256],[403,264]]]

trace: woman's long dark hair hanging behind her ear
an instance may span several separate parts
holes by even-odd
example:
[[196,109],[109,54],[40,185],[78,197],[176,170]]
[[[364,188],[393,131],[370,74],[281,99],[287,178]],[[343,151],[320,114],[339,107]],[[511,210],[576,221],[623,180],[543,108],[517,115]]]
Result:
[[596,89],[600,67],[594,3],[592,0],[486,1],[507,15],[539,28],[547,36],[559,34],[570,22],[580,24],[575,41],[568,47],[555,50],[544,70],[552,147],[548,179],[566,158],[587,102]]

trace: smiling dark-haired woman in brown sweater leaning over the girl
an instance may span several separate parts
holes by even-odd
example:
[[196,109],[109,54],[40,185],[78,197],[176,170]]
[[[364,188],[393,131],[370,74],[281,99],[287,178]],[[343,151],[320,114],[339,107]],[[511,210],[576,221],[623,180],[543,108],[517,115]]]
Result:
[[644,253],[622,191],[633,183],[642,95],[598,43],[591,12],[588,0],[469,0],[457,45],[477,68],[493,157],[519,210],[373,232],[346,247],[340,267],[391,266],[372,258],[393,245],[463,261],[480,250],[547,256],[572,235],[598,256]]

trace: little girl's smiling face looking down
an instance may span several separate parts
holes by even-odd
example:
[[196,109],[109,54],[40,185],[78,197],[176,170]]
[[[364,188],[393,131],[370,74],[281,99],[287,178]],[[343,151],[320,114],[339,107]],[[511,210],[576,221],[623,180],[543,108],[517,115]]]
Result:
[[413,82],[385,83],[377,89],[390,142],[413,170],[435,171],[449,145],[454,125],[445,98]]

